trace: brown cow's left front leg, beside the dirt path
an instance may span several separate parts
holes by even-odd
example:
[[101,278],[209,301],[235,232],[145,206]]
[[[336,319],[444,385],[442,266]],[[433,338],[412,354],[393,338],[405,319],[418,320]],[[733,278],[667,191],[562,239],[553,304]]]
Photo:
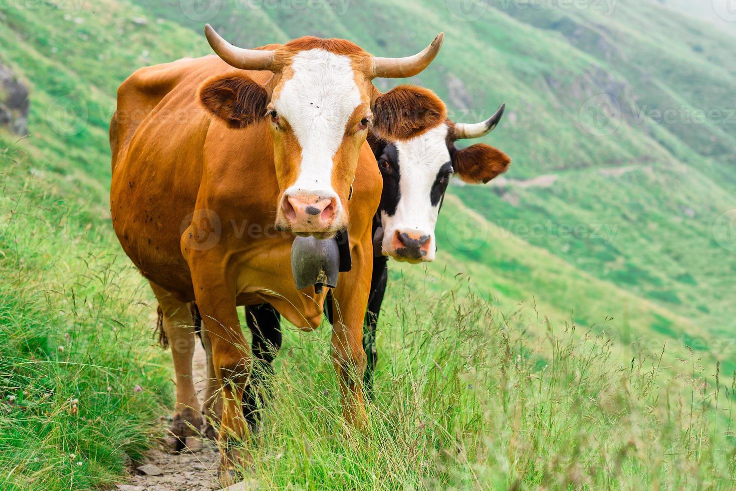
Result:
[[[214,375],[222,384],[218,444],[220,470],[227,476],[227,471],[236,464],[250,467],[251,462],[247,451],[238,448],[238,443],[247,442],[250,437],[243,414],[244,392],[250,378],[250,347],[238,319],[235,286],[223,276],[214,277],[211,266],[199,268],[195,264],[191,269],[197,306],[212,352]],[[199,277],[199,272],[206,275]]]

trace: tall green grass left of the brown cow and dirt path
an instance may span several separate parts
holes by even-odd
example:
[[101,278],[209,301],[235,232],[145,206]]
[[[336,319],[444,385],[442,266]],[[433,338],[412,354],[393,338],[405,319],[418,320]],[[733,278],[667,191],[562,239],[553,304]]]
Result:
[[99,205],[18,158],[0,154],[0,487],[109,487],[159,431],[166,358]]

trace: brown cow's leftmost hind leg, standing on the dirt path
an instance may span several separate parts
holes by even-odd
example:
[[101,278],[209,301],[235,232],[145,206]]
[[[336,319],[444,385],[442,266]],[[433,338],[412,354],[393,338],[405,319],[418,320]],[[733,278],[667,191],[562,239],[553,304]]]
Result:
[[195,347],[194,322],[187,303],[180,302],[154,283],[151,287],[163,315],[162,327],[169,340],[176,375],[177,402],[174,405],[174,423],[169,430],[172,435],[169,447],[177,452],[197,451],[201,446],[198,437],[202,416],[191,368]]

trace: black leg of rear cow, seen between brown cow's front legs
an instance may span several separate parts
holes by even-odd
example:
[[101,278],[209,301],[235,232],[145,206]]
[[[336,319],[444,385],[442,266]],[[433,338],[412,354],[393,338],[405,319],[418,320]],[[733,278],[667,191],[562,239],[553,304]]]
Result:
[[266,400],[266,380],[273,373],[272,361],[281,348],[280,314],[269,303],[249,305],[245,318],[253,336],[253,372],[245,392],[244,411],[250,427],[258,428],[259,409]]

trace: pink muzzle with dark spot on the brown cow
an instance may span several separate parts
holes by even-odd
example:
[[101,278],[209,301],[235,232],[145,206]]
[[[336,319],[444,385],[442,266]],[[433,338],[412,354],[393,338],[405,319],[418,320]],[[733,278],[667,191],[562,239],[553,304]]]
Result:
[[328,239],[347,224],[333,191],[289,191],[283,194],[276,224],[297,236]]

